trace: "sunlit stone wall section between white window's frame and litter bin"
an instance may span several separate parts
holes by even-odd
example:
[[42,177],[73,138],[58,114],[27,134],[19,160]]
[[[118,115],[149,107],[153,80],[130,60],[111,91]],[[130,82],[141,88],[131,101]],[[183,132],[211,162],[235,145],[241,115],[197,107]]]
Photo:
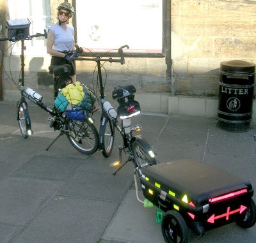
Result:
[[256,63],[256,1],[171,2],[172,94],[217,96],[222,61]]

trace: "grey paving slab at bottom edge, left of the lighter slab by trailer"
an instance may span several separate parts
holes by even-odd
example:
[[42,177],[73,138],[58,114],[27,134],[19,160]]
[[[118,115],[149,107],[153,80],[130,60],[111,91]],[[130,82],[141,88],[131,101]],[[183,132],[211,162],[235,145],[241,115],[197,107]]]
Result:
[[56,195],[12,242],[97,243],[115,210],[109,201]]

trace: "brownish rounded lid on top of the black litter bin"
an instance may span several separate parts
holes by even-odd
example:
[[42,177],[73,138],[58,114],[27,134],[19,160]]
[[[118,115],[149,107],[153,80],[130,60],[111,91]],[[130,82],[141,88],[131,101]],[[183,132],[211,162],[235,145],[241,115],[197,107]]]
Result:
[[220,71],[227,73],[255,73],[255,64],[243,60],[224,61],[220,64]]

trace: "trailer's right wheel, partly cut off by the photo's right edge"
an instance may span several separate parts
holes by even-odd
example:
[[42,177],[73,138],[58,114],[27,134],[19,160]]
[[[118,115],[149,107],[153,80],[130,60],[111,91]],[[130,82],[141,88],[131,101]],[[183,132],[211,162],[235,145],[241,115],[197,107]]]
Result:
[[251,198],[250,205],[237,219],[236,224],[242,228],[251,228],[256,223],[256,206]]

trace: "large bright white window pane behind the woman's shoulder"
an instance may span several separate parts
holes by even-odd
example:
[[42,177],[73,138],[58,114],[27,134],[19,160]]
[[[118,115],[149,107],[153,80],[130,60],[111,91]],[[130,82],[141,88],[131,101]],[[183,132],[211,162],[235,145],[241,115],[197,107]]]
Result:
[[92,52],[129,45],[138,56],[165,55],[166,0],[76,0],[77,43]]

